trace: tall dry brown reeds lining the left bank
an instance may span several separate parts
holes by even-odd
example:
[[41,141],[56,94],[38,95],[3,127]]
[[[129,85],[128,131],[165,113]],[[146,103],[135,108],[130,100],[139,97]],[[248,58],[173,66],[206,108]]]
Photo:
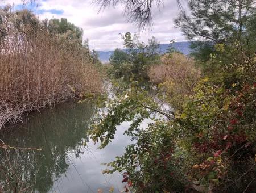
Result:
[[52,35],[38,24],[14,24],[0,24],[0,128],[25,112],[101,90],[90,52],[77,40]]

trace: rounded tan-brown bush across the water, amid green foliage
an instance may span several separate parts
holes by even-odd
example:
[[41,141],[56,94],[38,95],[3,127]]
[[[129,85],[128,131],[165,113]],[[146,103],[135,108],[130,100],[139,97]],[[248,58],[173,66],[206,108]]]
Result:
[[180,108],[184,96],[193,93],[193,87],[200,78],[200,69],[195,68],[193,58],[177,52],[162,56],[161,62],[150,68],[148,77],[152,83],[164,85],[172,107]]

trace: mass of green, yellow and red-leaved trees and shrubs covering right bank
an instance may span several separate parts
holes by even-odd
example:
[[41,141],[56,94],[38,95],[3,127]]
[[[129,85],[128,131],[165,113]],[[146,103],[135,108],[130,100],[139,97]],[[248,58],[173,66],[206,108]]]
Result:
[[[138,77],[132,78],[129,91],[103,102],[109,114],[95,125],[92,140],[104,148],[117,125],[131,121],[125,134],[136,142],[104,171],[121,172],[127,192],[255,191],[254,3],[188,1],[190,14],[181,11],[176,24],[193,41],[193,58],[170,51],[147,60],[148,52],[138,48],[132,59],[119,50],[110,58],[117,78],[126,66],[123,77]],[[128,40],[125,45],[134,45]],[[153,96],[140,86],[142,72],[157,84]],[[173,109],[164,111],[155,98]],[[141,129],[146,118],[155,122]]]

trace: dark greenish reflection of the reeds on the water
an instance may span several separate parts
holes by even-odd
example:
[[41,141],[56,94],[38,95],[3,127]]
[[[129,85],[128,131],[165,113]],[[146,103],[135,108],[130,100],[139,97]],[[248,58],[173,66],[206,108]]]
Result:
[[[54,181],[65,173],[69,166],[68,153],[76,157],[83,154],[80,149],[88,141],[86,131],[96,108],[90,104],[68,102],[53,110],[32,112],[23,124],[8,127],[0,133],[6,145],[19,148],[0,148],[0,184],[3,191],[30,187],[27,192],[47,192]],[[10,161],[10,164],[9,164]],[[15,174],[14,174],[15,173]],[[19,181],[19,179],[21,181]],[[1,189],[0,189],[1,192]]]

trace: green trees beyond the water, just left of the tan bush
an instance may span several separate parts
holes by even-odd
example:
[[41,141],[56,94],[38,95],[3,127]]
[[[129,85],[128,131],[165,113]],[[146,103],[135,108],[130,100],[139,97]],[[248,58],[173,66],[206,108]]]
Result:
[[137,35],[130,32],[122,35],[125,50],[115,49],[110,56],[108,72],[114,78],[124,78],[129,81],[134,78],[140,81],[148,79],[147,71],[151,65],[159,62],[159,43],[155,37],[148,40],[148,45],[139,41]]

